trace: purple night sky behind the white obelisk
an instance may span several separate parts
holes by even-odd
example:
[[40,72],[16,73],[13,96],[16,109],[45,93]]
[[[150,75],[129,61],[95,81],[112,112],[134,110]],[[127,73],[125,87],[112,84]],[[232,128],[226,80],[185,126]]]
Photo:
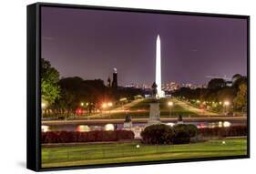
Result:
[[117,67],[118,85],[150,85],[158,34],[163,83],[246,75],[245,19],[42,7],[42,57],[60,77],[106,82]]

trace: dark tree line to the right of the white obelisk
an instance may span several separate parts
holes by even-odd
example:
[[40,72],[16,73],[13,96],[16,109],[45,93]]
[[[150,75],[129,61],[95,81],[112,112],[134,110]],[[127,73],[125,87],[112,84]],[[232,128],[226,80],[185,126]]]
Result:
[[[236,77],[236,78],[234,78]],[[182,97],[190,102],[209,101],[220,104],[216,107],[223,107],[223,101],[229,101],[234,111],[246,111],[247,108],[247,77],[235,75],[231,86],[227,86],[224,79],[213,78],[206,88],[191,89],[181,87],[172,93],[174,97]]]

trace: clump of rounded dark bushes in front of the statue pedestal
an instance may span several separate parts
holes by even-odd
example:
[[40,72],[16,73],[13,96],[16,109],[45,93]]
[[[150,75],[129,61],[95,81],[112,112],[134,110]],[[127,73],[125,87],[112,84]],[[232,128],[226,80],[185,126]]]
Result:
[[151,125],[141,132],[142,143],[146,144],[183,144],[195,137],[198,128],[194,125],[179,124],[169,127],[164,124]]

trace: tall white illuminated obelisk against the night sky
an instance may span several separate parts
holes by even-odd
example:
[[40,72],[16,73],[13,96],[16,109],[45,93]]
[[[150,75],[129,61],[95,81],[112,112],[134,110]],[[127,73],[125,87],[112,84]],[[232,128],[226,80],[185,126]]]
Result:
[[164,97],[164,91],[162,91],[161,86],[161,41],[160,36],[157,38],[157,54],[156,54],[156,84],[158,89],[157,97]]

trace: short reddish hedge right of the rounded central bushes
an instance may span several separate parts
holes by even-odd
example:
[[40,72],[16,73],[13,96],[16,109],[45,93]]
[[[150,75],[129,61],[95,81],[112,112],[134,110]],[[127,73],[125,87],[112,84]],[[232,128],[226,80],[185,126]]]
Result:
[[247,136],[246,126],[233,126],[229,128],[200,128],[202,137],[240,137]]

